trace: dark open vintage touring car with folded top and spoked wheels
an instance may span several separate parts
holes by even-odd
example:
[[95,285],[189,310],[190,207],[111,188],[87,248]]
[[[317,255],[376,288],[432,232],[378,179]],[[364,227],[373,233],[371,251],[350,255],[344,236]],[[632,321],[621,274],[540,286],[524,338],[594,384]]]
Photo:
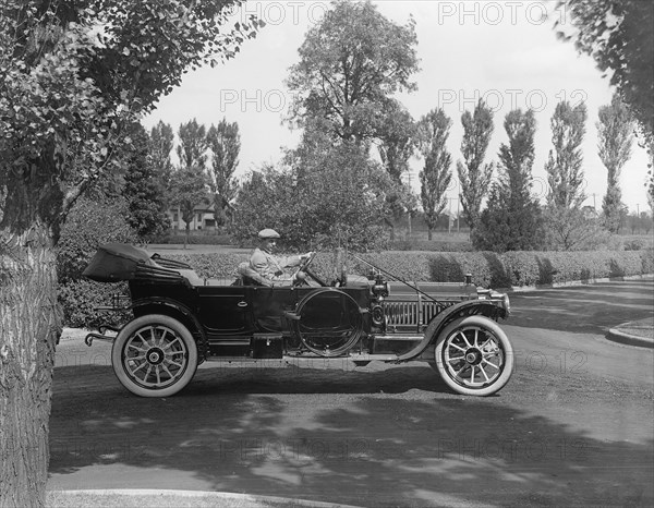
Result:
[[118,379],[143,397],[177,394],[210,360],[422,361],[452,390],[473,396],[509,380],[513,352],[497,325],[509,315],[506,294],[477,288],[471,276],[411,283],[356,256],[368,276],[348,275],[342,265],[326,281],[312,270],[314,257],[303,261],[292,286],[269,287],[246,269],[231,281],[204,279],[187,264],[132,245],[102,245],[84,275],[128,281],[130,294],[106,307],[124,312],[125,323],[100,326],[85,341],[111,340]]

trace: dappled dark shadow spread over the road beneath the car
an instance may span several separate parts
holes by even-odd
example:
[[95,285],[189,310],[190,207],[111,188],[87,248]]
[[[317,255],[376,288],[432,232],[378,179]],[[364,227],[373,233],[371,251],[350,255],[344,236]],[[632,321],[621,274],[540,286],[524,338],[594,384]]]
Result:
[[[80,379],[93,389],[62,389]],[[110,367],[68,366],[56,390],[56,475],[118,464],[148,468],[141,488],[184,488],[175,479],[191,477],[206,489],[360,506],[652,501],[652,439],[598,440],[501,392],[450,395],[426,366],[201,370],[168,399],[128,394]]]

